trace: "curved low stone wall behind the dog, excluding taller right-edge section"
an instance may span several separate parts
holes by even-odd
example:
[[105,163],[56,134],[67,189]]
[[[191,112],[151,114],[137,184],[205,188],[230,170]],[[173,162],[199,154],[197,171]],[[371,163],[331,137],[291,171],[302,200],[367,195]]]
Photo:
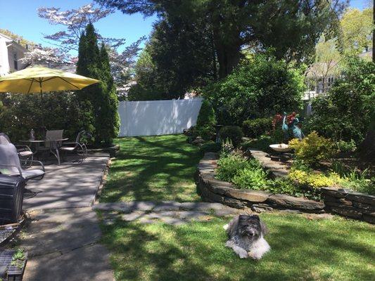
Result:
[[253,211],[272,211],[273,209],[289,209],[309,213],[323,213],[324,203],[305,200],[281,194],[271,194],[260,190],[239,190],[231,183],[215,178],[218,155],[205,153],[196,171],[198,194],[208,202],[219,202],[229,207],[242,209],[249,207]]

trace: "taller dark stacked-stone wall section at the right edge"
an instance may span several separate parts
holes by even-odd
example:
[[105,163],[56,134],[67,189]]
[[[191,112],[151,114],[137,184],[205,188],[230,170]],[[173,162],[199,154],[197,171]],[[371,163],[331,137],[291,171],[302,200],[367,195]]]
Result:
[[322,188],[326,211],[375,223],[375,196],[343,188]]

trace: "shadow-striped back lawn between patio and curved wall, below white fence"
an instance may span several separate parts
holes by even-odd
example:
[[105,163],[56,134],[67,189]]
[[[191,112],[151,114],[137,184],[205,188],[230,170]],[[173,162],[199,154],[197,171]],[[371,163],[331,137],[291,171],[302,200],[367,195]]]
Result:
[[193,174],[201,154],[184,135],[117,138],[101,202],[198,201]]

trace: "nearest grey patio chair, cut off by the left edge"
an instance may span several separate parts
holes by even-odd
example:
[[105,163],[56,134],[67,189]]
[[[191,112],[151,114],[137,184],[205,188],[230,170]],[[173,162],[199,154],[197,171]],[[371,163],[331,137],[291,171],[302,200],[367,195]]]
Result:
[[[39,164],[42,169],[23,169],[18,157],[17,148],[8,141],[5,136],[0,136],[0,174],[20,176],[28,181],[30,179],[42,179],[45,174],[44,165],[40,161],[27,160]],[[30,163],[30,165],[32,164]]]

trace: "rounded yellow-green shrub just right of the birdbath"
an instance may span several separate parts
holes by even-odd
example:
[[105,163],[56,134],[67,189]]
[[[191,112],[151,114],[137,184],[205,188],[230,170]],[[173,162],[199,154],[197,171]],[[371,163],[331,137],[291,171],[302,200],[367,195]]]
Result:
[[331,140],[318,136],[316,132],[310,133],[302,141],[294,138],[289,141],[289,145],[295,150],[296,159],[311,165],[317,165],[320,161],[329,159],[335,152]]

